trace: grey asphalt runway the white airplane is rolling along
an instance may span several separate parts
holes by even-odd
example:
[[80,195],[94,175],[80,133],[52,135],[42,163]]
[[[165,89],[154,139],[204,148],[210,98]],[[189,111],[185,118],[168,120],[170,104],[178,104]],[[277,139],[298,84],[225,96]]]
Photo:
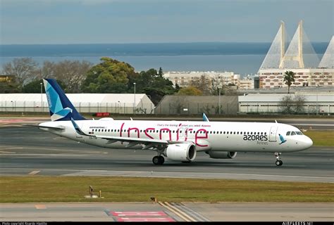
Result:
[[334,182],[333,148],[285,153],[276,167],[271,153],[237,153],[215,160],[198,153],[192,163],[156,166],[150,150],[114,150],[64,139],[35,127],[1,127],[1,175],[150,176],[202,179]]

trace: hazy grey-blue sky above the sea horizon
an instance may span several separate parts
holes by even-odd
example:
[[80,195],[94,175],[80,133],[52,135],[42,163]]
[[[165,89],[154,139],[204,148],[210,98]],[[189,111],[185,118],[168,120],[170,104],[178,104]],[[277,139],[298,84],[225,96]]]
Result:
[[333,0],[0,0],[1,44],[271,42],[299,20],[328,42]]

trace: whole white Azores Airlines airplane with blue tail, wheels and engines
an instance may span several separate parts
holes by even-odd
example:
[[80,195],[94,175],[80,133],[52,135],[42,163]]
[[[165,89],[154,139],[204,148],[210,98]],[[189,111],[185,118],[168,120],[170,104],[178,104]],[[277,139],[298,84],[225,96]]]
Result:
[[164,157],[192,162],[204,151],[210,158],[232,159],[237,152],[274,153],[276,165],[281,153],[306,150],[313,144],[302,131],[278,122],[209,122],[86,120],[74,108],[54,79],[44,79],[51,122],[37,125],[74,141],[104,148],[154,150],[152,162],[162,165]]

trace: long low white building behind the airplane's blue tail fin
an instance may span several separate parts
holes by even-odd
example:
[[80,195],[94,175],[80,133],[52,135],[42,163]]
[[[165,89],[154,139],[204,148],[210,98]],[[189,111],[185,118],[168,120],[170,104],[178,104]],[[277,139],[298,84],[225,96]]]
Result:
[[[66,94],[80,113],[153,113],[146,94]],[[134,107],[135,106],[135,107]],[[0,112],[49,112],[45,94],[0,94]]]

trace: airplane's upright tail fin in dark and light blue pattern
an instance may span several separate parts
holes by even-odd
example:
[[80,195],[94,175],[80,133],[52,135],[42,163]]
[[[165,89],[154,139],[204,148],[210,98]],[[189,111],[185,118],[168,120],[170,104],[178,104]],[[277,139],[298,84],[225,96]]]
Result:
[[70,120],[71,117],[74,120],[86,120],[70,103],[56,79],[43,79],[43,82],[52,121]]

